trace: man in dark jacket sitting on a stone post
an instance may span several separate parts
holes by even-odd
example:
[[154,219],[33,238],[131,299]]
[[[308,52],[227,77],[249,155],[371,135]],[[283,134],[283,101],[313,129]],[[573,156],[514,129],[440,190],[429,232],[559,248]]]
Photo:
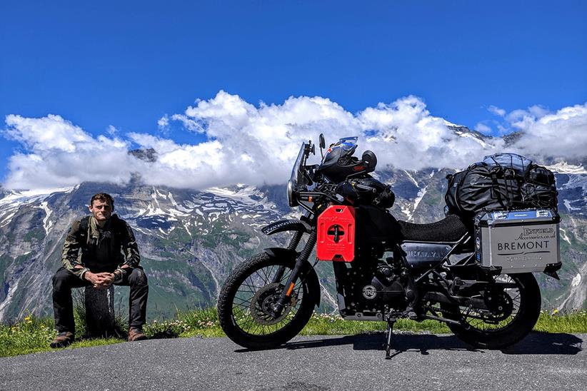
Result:
[[[74,306],[71,288],[93,286],[107,289],[112,284],[131,287],[129,295],[129,341],[144,340],[149,285],[134,233],[126,221],[112,214],[114,199],[98,193],[90,200],[91,215],[76,220],[69,228],[61,261],[53,277],[53,310],[58,335],[51,347],[74,341]],[[81,254],[80,254],[81,252]]]

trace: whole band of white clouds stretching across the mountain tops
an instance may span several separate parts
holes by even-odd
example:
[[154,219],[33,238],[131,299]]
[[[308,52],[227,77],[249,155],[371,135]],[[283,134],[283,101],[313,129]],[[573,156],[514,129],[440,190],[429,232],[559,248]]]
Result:
[[[523,136],[518,153],[556,151],[575,156],[586,151],[586,106],[557,113],[533,106],[506,113],[493,107],[506,121],[536,138]],[[24,151],[11,156],[7,188],[71,186],[81,181],[126,183],[133,173],[152,185],[208,188],[234,183],[284,183],[302,141],[327,143],[344,136],[359,136],[358,154],[371,149],[378,167],[417,170],[425,167],[464,168],[483,156],[503,150],[501,138],[479,141],[469,133],[455,133],[443,118],[432,116],[415,96],[389,104],[379,103],[350,113],[322,97],[290,97],[279,105],[254,106],[237,95],[220,91],[207,101],[196,101],[184,113],[164,116],[158,124],[179,121],[189,131],[204,136],[198,144],[181,144],[165,136],[129,133],[124,138],[92,136],[60,116],[6,117],[5,135],[19,141]],[[485,131],[483,123],[476,129]],[[498,128],[506,129],[501,124]],[[559,137],[559,133],[568,133]],[[155,162],[130,156],[131,143],[157,151]],[[550,144],[550,146],[549,146]],[[552,147],[556,145],[556,147]],[[559,148],[560,146],[560,148]],[[554,153],[554,152],[553,152]],[[319,156],[319,153],[318,153]],[[318,157],[313,158],[314,161]]]

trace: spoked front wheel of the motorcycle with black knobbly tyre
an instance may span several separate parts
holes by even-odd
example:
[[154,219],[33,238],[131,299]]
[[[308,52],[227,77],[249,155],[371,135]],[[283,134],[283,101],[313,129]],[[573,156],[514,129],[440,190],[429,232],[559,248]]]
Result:
[[291,300],[278,317],[271,313],[295,261],[267,253],[241,263],[224,283],[218,301],[222,330],[249,349],[270,349],[295,337],[310,320],[317,295],[305,275],[294,282]]

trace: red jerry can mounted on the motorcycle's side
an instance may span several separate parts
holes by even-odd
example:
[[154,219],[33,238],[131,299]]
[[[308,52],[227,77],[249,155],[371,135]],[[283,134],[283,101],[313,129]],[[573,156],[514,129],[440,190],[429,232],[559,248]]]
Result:
[[343,262],[355,258],[355,208],[331,205],[318,216],[316,257]]

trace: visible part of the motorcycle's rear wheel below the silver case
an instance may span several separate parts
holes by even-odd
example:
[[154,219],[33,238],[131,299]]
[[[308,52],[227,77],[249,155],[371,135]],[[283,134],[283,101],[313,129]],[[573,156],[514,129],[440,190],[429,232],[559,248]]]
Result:
[[486,322],[483,319],[475,318],[478,315],[470,309],[451,306],[444,308],[451,310],[452,315],[447,318],[458,320],[460,313],[468,327],[448,323],[448,328],[464,342],[474,347],[485,349],[503,349],[526,337],[532,331],[538,321],[541,309],[541,295],[536,278],[532,273],[519,273],[501,275],[498,280],[506,283],[513,283],[516,288],[508,288],[504,293],[510,299],[512,312],[498,323]]

